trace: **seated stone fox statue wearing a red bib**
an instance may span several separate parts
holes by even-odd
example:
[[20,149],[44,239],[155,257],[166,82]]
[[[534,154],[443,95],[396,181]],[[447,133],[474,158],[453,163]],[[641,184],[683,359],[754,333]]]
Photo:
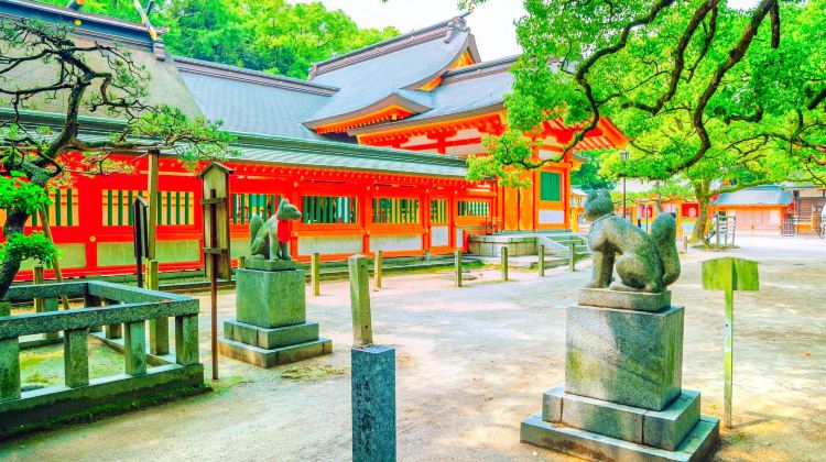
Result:
[[250,218],[250,257],[265,260],[293,260],[290,256],[290,234],[293,221],[301,212],[286,199],[281,199],[275,215],[264,221],[260,215]]

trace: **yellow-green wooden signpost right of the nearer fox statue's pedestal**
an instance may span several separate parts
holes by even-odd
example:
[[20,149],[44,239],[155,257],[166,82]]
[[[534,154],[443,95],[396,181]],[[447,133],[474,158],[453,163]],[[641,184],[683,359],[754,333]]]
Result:
[[726,292],[724,346],[722,426],[731,428],[731,381],[733,364],[735,290],[759,290],[757,262],[727,256],[703,262],[703,288]]

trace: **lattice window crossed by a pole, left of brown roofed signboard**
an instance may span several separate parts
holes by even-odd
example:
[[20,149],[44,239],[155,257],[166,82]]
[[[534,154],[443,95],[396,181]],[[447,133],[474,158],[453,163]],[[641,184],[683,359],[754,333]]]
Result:
[[[104,226],[132,226],[132,202],[137,197],[146,200],[140,190],[104,189]],[[195,193],[157,191],[157,224],[185,226],[195,223]]]

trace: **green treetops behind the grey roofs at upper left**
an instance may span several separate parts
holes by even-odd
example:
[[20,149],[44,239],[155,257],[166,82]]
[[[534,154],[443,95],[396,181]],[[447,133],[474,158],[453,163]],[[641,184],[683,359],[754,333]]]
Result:
[[[131,0],[89,0],[84,10],[140,21]],[[399,35],[394,28],[359,29],[317,1],[161,0],[151,20],[169,28],[163,38],[175,55],[296,78],[305,78],[314,62]]]

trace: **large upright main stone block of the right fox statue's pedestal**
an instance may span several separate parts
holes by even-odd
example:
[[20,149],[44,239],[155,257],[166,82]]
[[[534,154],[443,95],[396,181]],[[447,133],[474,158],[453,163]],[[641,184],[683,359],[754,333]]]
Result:
[[565,392],[652,410],[667,407],[682,385],[684,311],[568,307]]

